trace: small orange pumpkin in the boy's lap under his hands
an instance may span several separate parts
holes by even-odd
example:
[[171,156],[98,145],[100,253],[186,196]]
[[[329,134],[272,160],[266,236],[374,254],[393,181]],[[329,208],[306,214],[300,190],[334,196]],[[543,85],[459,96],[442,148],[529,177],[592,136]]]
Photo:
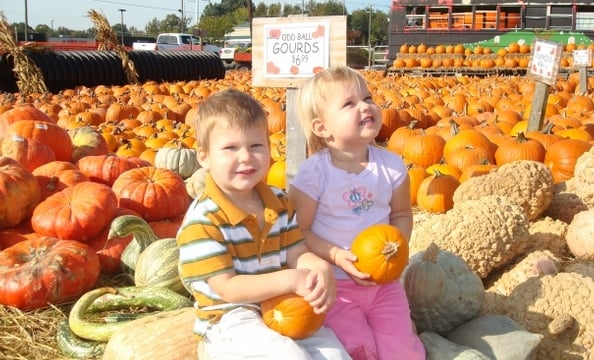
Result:
[[262,301],[262,319],[274,331],[292,339],[304,339],[318,331],[325,315],[316,314],[303,297],[289,293]]

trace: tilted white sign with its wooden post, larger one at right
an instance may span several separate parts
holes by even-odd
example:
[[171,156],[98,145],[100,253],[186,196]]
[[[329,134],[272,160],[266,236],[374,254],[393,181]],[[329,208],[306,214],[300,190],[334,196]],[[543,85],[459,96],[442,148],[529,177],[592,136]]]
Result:
[[535,39],[527,75],[536,81],[528,131],[540,130],[544,121],[550,87],[557,81],[563,44]]

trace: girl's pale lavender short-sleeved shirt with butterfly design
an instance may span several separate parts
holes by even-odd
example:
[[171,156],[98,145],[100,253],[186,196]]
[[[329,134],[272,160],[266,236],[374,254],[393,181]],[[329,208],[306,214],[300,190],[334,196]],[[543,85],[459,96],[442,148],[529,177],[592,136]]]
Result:
[[[334,167],[330,152],[324,149],[300,165],[291,186],[318,202],[312,231],[350,249],[355,236],[366,227],[390,223],[392,192],[406,177],[400,156],[370,145],[369,162],[359,174]],[[338,267],[335,273],[337,279],[348,279]]]

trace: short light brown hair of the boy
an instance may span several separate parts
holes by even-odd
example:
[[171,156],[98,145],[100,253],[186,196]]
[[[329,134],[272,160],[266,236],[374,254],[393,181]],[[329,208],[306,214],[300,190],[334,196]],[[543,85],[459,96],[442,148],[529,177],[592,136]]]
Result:
[[267,119],[262,104],[249,94],[235,89],[218,91],[198,104],[195,122],[198,146],[208,149],[210,133],[217,123],[245,130],[267,128]]

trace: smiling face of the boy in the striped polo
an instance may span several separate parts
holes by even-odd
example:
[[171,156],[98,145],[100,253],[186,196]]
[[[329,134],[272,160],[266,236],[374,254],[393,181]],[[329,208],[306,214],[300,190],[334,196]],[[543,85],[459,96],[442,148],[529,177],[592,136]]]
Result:
[[228,195],[251,191],[266,178],[270,166],[268,129],[265,126],[242,130],[224,119],[210,133],[210,146],[200,149],[198,161]]

